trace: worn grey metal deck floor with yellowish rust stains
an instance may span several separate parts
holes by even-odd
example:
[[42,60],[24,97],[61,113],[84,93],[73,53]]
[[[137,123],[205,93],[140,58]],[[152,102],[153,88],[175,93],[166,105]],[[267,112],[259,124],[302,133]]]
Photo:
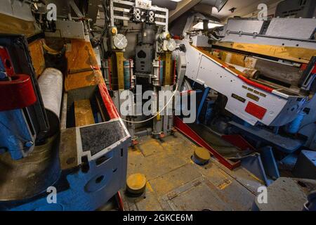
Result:
[[145,174],[147,185],[137,198],[121,191],[125,210],[251,210],[263,181],[242,167],[230,171],[215,159],[195,165],[195,148],[180,133],[164,142],[147,136],[129,148],[127,174]]

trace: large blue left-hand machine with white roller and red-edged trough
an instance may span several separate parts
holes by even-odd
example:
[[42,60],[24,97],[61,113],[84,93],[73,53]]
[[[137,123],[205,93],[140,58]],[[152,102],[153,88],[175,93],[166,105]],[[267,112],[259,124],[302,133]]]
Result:
[[[101,83],[62,94],[59,70],[48,68],[35,77],[24,36],[1,36],[0,49],[6,50],[1,65],[7,65],[1,69],[1,98],[12,103],[1,103],[0,110],[0,210],[102,207],[125,186],[131,142],[107,87]],[[15,82],[11,68],[26,81]],[[26,90],[19,86],[27,81]],[[13,91],[4,93],[4,85]],[[16,90],[28,94],[21,97]],[[23,100],[31,97],[35,102]],[[75,126],[74,103],[82,100],[93,106],[94,121]]]

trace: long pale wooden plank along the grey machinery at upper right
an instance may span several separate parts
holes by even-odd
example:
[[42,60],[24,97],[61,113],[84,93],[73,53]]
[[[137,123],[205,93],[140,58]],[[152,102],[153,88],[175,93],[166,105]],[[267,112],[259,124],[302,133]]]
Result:
[[222,46],[228,49],[235,49],[249,53],[256,53],[263,56],[271,56],[291,60],[297,63],[309,63],[312,56],[316,56],[315,49],[304,49],[299,47],[273,46],[264,44],[245,44],[236,42],[216,42],[214,47]]

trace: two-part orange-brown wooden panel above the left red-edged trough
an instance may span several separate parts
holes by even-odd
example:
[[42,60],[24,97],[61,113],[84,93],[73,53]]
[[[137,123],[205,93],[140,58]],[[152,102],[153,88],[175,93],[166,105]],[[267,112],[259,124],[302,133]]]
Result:
[[68,74],[65,79],[65,90],[79,89],[85,86],[103,84],[104,79],[91,43],[84,40],[72,39],[70,50],[66,53],[67,71],[82,68],[96,68],[87,72]]

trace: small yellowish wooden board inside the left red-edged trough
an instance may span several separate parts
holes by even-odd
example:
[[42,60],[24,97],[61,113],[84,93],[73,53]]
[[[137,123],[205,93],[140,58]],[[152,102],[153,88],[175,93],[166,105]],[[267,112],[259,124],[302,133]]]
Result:
[[74,120],[76,122],[76,127],[95,123],[91,104],[88,99],[74,102]]

